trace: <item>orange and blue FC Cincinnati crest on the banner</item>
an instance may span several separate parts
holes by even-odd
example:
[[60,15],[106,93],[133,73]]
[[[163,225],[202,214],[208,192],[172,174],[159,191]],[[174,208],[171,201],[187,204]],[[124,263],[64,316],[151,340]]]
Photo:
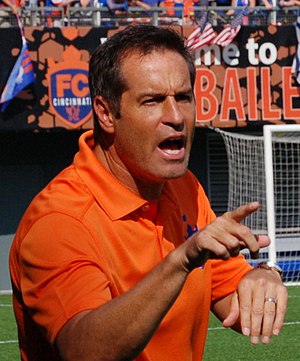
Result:
[[64,61],[48,58],[48,92],[52,112],[65,124],[78,128],[92,116],[88,86],[88,63],[80,61],[80,52],[69,46]]

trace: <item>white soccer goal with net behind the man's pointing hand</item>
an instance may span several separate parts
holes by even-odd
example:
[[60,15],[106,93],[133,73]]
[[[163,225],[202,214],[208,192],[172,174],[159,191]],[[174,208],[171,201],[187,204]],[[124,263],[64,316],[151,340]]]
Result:
[[277,262],[285,282],[300,284],[300,125],[265,125],[261,136],[216,131],[228,158],[228,210],[260,203],[244,221],[255,234],[271,239],[259,262]]

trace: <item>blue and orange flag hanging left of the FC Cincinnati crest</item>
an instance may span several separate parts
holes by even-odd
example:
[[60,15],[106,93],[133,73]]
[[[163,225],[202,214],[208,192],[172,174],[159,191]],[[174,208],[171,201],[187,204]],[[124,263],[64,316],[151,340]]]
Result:
[[35,81],[33,65],[29,56],[27,42],[23,36],[23,29],[20,30],[22,35],[22,50],[1,94],[1,111],[4,111],[7,108],[10,101],[18,95],[21,90],[25,89],[29,84]]

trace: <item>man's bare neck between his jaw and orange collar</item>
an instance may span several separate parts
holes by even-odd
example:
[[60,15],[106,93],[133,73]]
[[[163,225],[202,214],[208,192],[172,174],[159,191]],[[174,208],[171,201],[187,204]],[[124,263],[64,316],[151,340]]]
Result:
[[101,164],[133,193],[148,201],[160,198],[164,183],[144,182],[134,177],[120,161],[113,147],[103,149],[97,144],[94,152]]

